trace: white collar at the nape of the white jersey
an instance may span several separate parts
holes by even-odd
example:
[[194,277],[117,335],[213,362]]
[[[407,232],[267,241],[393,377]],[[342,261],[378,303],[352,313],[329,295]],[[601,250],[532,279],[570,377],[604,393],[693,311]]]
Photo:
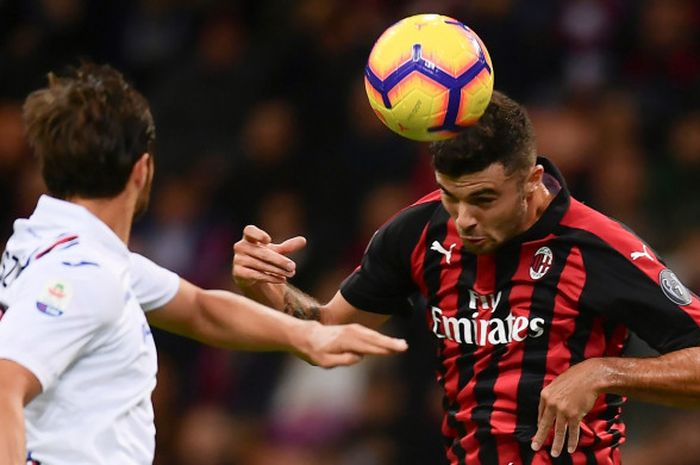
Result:
[[42,195],[29,220],[32,223],[82,233],[86,238],[98,241],[109,250],[125,257],[129,256],[128,247],[109,226],[87,208],[73,202]]

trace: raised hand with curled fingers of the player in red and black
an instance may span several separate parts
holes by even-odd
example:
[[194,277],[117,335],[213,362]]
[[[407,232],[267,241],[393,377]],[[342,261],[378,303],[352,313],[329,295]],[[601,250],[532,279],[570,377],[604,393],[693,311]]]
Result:
[[302,236],[275,244],[268,233],[248,225],[233,246],[233,279],[242,289],[257,283],[285,283],[296,273],[296,263],[287,255],[304,246],[306,239]]

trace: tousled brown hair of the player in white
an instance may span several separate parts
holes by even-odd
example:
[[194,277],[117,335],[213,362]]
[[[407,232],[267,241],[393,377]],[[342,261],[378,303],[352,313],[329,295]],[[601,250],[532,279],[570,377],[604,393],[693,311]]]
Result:
[[48,86],[27,97],[23,113],[46,186],[58,198],[114,197],[138,159],[153,156],[148,102],[108,65],[49,73]]

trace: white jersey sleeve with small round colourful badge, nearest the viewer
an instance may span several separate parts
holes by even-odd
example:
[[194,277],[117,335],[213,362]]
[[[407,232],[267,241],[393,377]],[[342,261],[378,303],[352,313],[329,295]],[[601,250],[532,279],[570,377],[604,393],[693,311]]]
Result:
[[0,320],[0,358],[30,370],[44,391],[118,320],[125,302],[117,277],[96,263],[46,265],[15,282]]

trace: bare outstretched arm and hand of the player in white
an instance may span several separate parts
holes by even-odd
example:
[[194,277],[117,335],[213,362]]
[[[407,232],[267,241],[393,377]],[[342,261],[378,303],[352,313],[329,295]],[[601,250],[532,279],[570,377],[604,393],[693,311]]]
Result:
[[363,355],[390,355],[406,342],[358,324],[324,326],[276,312],[228,291],[185,281],[175,297],[148,313],[153,326],[229,349],[293,352],[322,367],[352,365]]

